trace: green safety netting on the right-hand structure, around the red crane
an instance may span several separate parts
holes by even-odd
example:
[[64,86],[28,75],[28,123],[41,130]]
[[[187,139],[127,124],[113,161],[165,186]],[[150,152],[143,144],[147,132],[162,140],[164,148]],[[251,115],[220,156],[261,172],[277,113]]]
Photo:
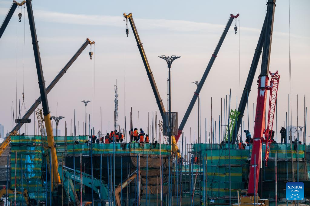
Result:
[[[220,146],[218,144],[193,144],[192,153],[193,155],[199,156],[200,159],[206,159],[207,164],[205,171],[203,170],[202,164],[198,165],[198,172],[205,172],[207,174],[207,187],[206,193],[208,197],[228,197],[229,191],[229,180],[231,180],[231,195],[237,196],[237,190],[245,189],[246,182],[248,179],[249,162],[252,152],[252,145],[246,147],[246,149],[239,150],[236,144],[231,144],[230,149],[228,144]],[[265,144],[262,147],[262,157],[265,156]],[[299,145],[298,148],[292,148],[290,144],[271,144],[268,167],[262,164],[263,173],[263,187],[270,188],[264,190],[263,195],[274,196],[274,181],[275,181],[275,156],[277,153],[277,180],[280,181],[292,181],[292,163],[293,159],[294,166],[294,178],[297,177],[300,181],[309,181],[310,178],[310,166],[309,162],[305,160],[305,151],[310,151],[309,145]],[[230,161],[229,161],[230,157]],[[292,157],[292,158],[291,158]],[[306,159],[309,159],[306,157]],[[296,160],[299,159],[297,163]],[[230,165],[230,175],[229,175]],[[196,168],[197,165],[194,165]],[[184,169],[188,166],[184,166]],[[194,172],[196,170],[194,169]],[[184,172],[184,170],[182,170]],[[229,177],[231,176],[231,177]],[[203,175],[198,176],[201,189],[201,195],[203,195]],[[273,187],[271,187],[273,185]],[[279,187],[279,186],[278,186]],[[273,190],[273,191],[272,191]],[[284,196],[283,191],[278,190],[278,197]],[[217,204],[222,204],[220,199],[215,200]]]

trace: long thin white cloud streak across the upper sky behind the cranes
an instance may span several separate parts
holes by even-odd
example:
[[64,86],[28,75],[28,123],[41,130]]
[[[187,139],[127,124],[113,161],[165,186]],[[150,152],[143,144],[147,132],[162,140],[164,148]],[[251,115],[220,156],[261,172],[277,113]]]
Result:
[[[0,0],[0,3],[2,1]],[[7,9],[0,8],[0,15],[6,15]],[[83,15],[83,14],[71,14],[62,12],[52,12],[44,10],[34,11],[36,21],[42,22],[54,22],[62,24],[79,24],[79,25],[94,25],[94,26],[109,26],[109,27],[123,27],[123,17],[109,16],[109,15]],[[163,29],[170,32],[183,32],[183,33],[210,33],[210,31],[218,32],[222,31],[224,25],[201,23],[185,20],[167,20],[167,19],[135,19],[136,23],[139,23],[139,30],[150,29]],[[242,27],[243,32],[259,33],[260,28]],[[273,32],[277,36],[288,36],[285,32]],[[295,38],[310,38],[305,36],[297,36],[291,34]]]

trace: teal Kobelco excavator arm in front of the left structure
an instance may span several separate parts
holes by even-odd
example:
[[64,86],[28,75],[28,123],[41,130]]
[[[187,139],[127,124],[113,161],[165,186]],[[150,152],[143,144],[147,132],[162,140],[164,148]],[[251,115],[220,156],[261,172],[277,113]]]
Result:
[[[99,199],[102,200],[105,205],[108,205],[108,195],[109,188],[104,181],[100,179],[92,178],[90,174],[86,174],[79,170],[73,170],[66,166],[58,166],[58,172],[63,175],[61,180],[64,187],[64,191],[70,197],[72,202],[75,202],[75,205],[81,206],[81,202],[78,199],[78,195],[74,191],[74,185],[72,181],[76,181],[86,187],[91,188],[96,194],[98,194]],[[82,177],[82,178],[81,178]],[[91,181],[93,179],[93,181]],[[93,183],[92,183],[93,182]],[[92,183],[92,184],[91,184]]]

